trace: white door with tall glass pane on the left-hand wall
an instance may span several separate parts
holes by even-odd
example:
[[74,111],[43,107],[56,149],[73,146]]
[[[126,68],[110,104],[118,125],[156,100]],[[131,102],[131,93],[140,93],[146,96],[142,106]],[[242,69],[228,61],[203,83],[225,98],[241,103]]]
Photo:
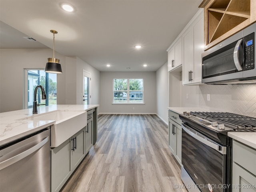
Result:
[[83,79],[82,79],[82,104],[90,105],[91,104],[91,74],[90,72],[83,70]]

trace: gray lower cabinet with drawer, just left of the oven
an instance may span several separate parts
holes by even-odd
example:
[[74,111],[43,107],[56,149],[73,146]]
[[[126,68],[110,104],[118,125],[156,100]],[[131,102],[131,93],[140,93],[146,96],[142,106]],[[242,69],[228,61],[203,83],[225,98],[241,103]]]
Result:
[[179,114],[169,110],[168,146],[176,160],[181,164],[182,127]]

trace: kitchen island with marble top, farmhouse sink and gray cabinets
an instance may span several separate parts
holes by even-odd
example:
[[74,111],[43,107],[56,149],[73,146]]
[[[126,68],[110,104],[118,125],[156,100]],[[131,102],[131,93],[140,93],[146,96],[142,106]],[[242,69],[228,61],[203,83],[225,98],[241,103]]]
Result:
[[[25,184],[31,186],[26,188],[27,191],[58,192],[96,143],[98,106],[53,105],[39,107],[38,114],[32,114],[32,109],[0,113],[0,174],[4,175],[1,189],[18,191]],[[29,146],[23,145],[46,131],[48,136],[30,142]],[[19,148],[24,148],[23,152],[16,152]],[[24,167],[22,172],[17,166]],[[19,171],[14,174],[13,169]],[[26,178],[30,180],[15,179],[15,184],[11,184],[13,178],[20,178],[22,174],[27,174]],[[31,182],[33,185],[30,185]]]

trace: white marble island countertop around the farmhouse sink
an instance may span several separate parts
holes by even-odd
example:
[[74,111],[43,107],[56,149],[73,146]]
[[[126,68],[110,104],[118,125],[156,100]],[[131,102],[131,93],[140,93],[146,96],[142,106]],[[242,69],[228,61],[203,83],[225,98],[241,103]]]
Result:
[[[51,105],[38,107],[38,114],[53,111],[88,111],[99,105]],[[31,109],[0,113],[0,146],[13,140],[32,134],[55,123],[52,120],[23,120],[32,116]]]

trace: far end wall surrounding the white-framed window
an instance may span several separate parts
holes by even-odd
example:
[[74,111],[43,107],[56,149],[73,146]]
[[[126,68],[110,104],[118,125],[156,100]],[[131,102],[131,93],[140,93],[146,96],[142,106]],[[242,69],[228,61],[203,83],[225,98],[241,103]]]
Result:
[[[145,104],[112,104],[113,78],[143,78]],[[156,72],[100,72],[100,113],[156,114]]]

